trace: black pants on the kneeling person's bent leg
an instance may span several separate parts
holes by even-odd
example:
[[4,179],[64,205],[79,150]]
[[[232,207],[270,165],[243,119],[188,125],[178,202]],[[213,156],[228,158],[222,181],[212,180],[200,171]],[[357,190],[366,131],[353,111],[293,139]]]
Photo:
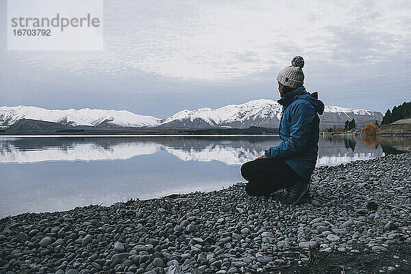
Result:
[[241,166],[241,175],[248,182],[248,195],[269,195],[282,188],[294,186],[302,178],[284,160],[258,159]]

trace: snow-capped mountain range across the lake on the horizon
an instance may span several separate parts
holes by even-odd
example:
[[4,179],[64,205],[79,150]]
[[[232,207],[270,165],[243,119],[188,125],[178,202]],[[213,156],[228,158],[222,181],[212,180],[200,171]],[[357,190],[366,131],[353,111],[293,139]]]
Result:
[[[143,116],[127,110],[98,110],[83,108],[75,110],[47,110],[34,106],[18,105],[0,107],[0,127],[12,128],[33,125],[38,128],[51,127],[60,129],[70,127],[167,127],[167,128],[239,128],[251,126],[277,128],[282,115],[282,105],[269,99],[258,99],[240,105],[225,105],[223,108],[199,108],[182,110],[166,118]],[[356,110],[326,105],[320,116],[321,129],[325,127],[344,127],[347,120],[355,119],[358,127],[365,123],[382,121],[382,113],[372,110]],[[25,121],[25,123],[23,123]],[[33,122],[34,121],[34,122]],[[42,121],[42,122],[40,122]],[[47,123],[45,123],[47,122]],[[36,129],[37,129],[36,127]]]

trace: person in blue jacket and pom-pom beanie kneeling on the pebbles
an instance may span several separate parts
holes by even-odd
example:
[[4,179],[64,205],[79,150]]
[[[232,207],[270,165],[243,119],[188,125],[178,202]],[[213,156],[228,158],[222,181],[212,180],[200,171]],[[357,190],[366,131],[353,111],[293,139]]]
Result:
[[308,193],[310,177],[318,155],[319,115],[324,103],[317,92],[310,94],[303,86],[304,60],[292,58],[291,66],[277,76],[282,117],[279,138],[282,142],[266,150],[256,160],[241,166],[241,175],[247,179],[249,195],[270,195],[287,188],[286,203],[298,203]]

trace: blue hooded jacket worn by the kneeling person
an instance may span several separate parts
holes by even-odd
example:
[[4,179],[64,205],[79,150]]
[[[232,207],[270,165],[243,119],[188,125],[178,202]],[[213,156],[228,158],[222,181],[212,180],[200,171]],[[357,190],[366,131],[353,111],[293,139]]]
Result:
[[[283,141],[265,151],[266,158],[283,159],[306,182],[310,181],[319,151],[319,115],[324,103],[304,86],[292,90],[277,102],[283,106],[279,138]],[[317,114],[318,113],[318,114]]]

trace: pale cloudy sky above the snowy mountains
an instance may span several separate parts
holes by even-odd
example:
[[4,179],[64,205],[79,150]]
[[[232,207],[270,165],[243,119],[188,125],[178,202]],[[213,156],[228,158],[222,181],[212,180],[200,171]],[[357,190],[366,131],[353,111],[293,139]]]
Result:
[[301,55],[326,105],[384,113],[411,101],[410,14],[408,0],[110,0],[103,51],[8,51],[0,0],[0,105],[165,118],[277,100],[278,71]]

